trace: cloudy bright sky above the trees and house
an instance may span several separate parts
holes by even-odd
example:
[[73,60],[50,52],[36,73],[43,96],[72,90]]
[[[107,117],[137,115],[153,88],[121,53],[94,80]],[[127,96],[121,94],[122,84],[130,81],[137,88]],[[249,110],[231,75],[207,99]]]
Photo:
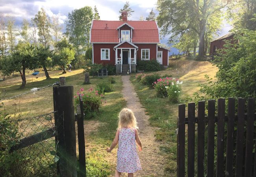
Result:
[[[0,0],[0,13],[11,16],[15,19],[15,25],[21,26],[23,18],[30,20],[43,7],[49,17],[57,16],[59,22],[63,24],[65,30],[65,20],[68,13],[74,9],[84,6],[96,6],[101,20],[119,20],[119,10],[124,6],[127,0]],[[130,7],[134,10],[132,17],[128,20],[139,20],[144,18],[153,8],[156,11],[157,0],[128,0]],[[223,29],[219,35],[228,33],[231,26],[224,22]],[[216,36],[217,37],[217,36]],[[168,37],[161,37],[161,43],[167,44]],[[178,50],[171,48],[171,53],[178,53]]]

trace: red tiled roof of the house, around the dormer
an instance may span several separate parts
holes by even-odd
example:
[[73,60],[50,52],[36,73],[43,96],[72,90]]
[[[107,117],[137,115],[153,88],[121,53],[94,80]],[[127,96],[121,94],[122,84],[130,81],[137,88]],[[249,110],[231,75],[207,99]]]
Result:
[[[119,43],[117,28],[127,23],[134,28],[132,43],[160,43],[156,21],[106,21],[93,20],[91,28],[91,42]],[[108,28],[106,29],[106,24]]]

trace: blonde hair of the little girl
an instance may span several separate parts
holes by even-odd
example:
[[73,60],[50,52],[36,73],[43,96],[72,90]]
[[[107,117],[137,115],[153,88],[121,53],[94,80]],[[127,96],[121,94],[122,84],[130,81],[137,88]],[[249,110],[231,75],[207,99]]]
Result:
[[123,108],[119,112],[119,121],[118,121],[117,129],[121,129],[123,127],[134,127],[136,129],[138,129],[137,119],[135,118],[132,110],[130,110],[128,108]]

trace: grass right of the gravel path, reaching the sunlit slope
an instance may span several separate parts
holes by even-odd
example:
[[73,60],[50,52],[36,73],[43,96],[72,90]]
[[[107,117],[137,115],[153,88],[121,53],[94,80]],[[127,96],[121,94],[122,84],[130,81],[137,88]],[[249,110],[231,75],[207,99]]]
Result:
[[[214,77],[217,68],[210,62],[189,61],[179,59],[169,62],[169,68],[160,71],[162,76],[173,76],[183,81],[182,102],[193,100],[193,93],[199,90],[198,83],[206,83],[204,75]],[[154,89],[141,85],[135,78],[131,77],[135,90],[142,105],[146,108],[150,116],[150,125],[159,127],[155,132],[156,140],[161,143],[161,153],[166,156],[165,171],[170,176],[176,176],[176,128],[178,117],[178,104],[171,104],[168,98],[158,98]]]

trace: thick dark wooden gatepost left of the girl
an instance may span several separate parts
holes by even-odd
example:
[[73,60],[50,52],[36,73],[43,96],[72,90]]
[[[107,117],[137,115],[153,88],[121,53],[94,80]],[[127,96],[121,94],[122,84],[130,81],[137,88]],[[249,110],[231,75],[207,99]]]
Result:
[[57,173],[61,177],[77,177],[76,131],[73,86],[53,87],[54,118],[56,125],[56,151],[59,157]]

